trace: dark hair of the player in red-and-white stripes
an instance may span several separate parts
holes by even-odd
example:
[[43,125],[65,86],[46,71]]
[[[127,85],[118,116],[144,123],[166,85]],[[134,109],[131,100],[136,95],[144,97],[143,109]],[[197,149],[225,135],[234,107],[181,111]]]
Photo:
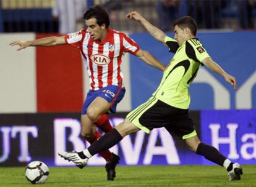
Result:
[[105,8],[103,8],[100,5],[90,7],[90,9],[88,9],[83,15],[83,18],[85,20],[89,20],[90,18],[96,18],[98,25],[101,26],[103,23],[105,23],[106,28],[108,28],[109,26],[108,12]]

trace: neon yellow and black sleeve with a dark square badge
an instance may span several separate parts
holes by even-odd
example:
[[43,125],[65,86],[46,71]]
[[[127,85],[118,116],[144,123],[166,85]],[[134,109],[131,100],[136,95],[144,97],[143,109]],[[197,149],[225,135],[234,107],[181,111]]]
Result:
[[190,39],[186,43],[186,54],[196,62],[202,63],[203,59],[210,57],[203,45],[197,39]]

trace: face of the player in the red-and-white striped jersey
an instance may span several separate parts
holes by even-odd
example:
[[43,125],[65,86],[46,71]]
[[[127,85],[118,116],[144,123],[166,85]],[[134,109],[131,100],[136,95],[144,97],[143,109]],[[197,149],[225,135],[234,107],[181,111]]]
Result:
[[87,26],[89,34],[94,40],[103,41],[103,39],[105,39],[106,26],[104,23],[100,26],[97,24],[96,18],[90,18],[88,20],[85,20],[85,25]]

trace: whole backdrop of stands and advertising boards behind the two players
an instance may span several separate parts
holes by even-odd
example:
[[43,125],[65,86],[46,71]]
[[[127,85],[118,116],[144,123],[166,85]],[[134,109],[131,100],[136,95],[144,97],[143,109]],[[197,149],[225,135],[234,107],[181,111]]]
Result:
[[[208,54],[237,78],[238,89],[200,68],[190,86],[191,116],[198,136],[229,159],[256,164],[256,1],[255,0],[2,0],[0,1],[0,165],[19,166],[40,160],[49,166],[72,165],[58,151],[82,150],[80,110],[88,91],[88,75],[78,49],[70,46],[10,47],[14,40],[60,36],[84,28],[83,13],[101,4],[111,28],[125,32],[165,65],[173,54],[139,24],[125,20],[137,10],[173,37],[173,23],[190,15]],[[162,73],[132,55],[124,55],[126,96],[111,114],[119,124],[147,100]],[[135,141],[138,140],[138,141]],[[43,148],[43,149],[42,149]],[[111,149],[122,165],[211,164],[191,153],[164,129],[130,135]],[[130,157],[133,155],[133,157]],[[89,165],[105,165],[94,156]]]

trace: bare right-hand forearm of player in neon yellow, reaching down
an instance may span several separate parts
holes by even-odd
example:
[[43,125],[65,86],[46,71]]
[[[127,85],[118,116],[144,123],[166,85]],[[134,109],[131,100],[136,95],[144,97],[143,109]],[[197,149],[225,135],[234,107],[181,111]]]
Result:
[[211,60],[210,57],[203,59],[202,63],[207,66],[211,71],[220,74],[221,76],[224,77],[224,79],[229,82],[229,84],[234,86],[234,89],[237,89],[237,84],[236,84],[236,78],[233,76],[229,75],[226,73],[218,63],[214,62]]

